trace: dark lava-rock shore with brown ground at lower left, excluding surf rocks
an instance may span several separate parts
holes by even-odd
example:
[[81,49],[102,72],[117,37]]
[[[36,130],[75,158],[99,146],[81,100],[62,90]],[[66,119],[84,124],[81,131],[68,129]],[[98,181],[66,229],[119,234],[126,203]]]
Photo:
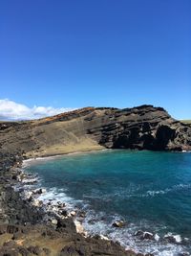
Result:
[[[62,220],[52,213],[53,222],[47,220],[45,211],[13,189],[19,183],[17,177],[22,175],[22,155],[1,152],[1,156],[0,195],[4,197],[2,201],[0,197],[0,210],[4,209],[5,218],[0,219],[0,255],[7,255],[12,250],[14,255],[23,251],[25,255],[65,256],[72,252],[84,256],[108,255],[108,252],[112,256],[137,255],[99,236],[85,238],[76,232],[72,218]],[[57,243],[56,248],[53,242]]]

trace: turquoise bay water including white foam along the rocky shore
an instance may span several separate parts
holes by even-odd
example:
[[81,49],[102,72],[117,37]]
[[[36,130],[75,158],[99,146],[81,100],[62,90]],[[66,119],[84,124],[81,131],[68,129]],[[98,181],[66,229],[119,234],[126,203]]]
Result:
[[[190,244],[140,242],[134,233],[172,232],[191,239],[191,153],[99,151],[37,161],[27,169],[40,176],[50,197],[71,198],[86,210],[90,233],[159,255],[189,250]],[[112,227],[118,219],[127,221],[126,228]]]

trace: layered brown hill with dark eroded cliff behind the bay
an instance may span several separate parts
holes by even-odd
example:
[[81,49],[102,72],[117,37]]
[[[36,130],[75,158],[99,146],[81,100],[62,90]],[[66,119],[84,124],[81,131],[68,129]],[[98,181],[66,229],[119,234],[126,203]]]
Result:
[[191,127],[163,108],[86,107],[27,122],[1,122],[0,148],[28,157],[103,148],[190,151]]

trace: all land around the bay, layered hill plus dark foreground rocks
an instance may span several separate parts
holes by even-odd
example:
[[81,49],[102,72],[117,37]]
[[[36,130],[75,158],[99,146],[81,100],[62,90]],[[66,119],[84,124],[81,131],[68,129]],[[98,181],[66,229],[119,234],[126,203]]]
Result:
[[44,221],[13,190],[23,159],[99,149],[190,151],[191,127],[161,107],[87,107],[50,118],[0,123],[0,255],[136,255],[76,233],[72,218]]

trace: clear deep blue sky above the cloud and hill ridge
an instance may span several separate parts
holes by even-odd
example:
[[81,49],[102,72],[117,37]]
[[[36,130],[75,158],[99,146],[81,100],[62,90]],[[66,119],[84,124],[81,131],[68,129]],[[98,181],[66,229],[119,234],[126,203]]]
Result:
[[0,99],[191,118],[190,0],[0,2]]

